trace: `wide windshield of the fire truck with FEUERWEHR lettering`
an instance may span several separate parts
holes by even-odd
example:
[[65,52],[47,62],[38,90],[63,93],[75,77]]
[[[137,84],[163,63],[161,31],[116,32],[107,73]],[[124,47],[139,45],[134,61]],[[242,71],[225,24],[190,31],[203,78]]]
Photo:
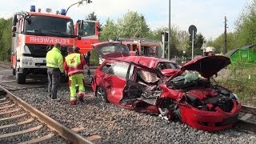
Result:
[[31,15],[26,19],[25,34],[55,36],[55,37],[74,37],[74,25],[71,19],[47,17],[42,15]]

